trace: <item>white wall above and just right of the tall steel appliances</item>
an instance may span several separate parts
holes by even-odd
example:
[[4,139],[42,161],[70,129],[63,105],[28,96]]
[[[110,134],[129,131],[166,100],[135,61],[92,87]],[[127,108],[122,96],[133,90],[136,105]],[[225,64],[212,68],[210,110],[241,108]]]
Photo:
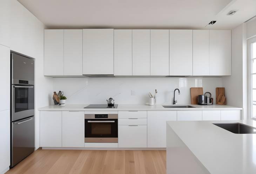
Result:
[[35,58],[36,148],[39,147],[39,111],[50,104],[52,78],[43,76],[43,30],[45,26],[16,0],[0,0],[0,44]]

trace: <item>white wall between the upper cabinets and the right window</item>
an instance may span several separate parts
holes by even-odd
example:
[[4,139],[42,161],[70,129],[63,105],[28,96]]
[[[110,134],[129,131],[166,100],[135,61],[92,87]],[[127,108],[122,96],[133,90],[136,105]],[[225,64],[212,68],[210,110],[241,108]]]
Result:
[[246,119],[247,108],[247,57],[245,24],[231,30],[232,75],[222,77],[227,105],[244,108]]

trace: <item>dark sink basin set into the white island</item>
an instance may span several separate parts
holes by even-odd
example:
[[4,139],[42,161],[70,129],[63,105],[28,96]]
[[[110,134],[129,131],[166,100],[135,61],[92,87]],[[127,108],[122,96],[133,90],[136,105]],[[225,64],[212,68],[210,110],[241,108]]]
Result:
[[256,134],[256,128],[241,123],[213,123],[214,125],[228,130],[234,134]]

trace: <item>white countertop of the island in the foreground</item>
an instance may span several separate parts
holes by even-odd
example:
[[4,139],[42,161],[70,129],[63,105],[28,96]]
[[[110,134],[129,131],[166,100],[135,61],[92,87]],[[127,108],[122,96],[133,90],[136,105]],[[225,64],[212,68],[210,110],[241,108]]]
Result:
[[234,134],[212,124],[227,122],[256,127],[253,120],[168,121],[167,125],[211,174],[255,174],[256,134]]

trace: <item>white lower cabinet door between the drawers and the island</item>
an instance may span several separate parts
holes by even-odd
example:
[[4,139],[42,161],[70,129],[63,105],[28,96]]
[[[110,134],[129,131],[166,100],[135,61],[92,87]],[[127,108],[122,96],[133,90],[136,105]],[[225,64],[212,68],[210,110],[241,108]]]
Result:
[[148,111],[148,147],[166,147],[166,121],[177,121],[177,111]]

